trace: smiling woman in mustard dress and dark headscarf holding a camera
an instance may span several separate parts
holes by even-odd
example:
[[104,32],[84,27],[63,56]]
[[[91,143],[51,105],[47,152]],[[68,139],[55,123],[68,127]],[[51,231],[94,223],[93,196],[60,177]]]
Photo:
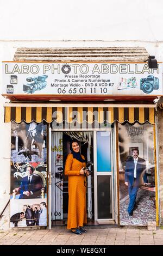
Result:
[[70,142],[70,150],[71,154],[68,154],[65,164],[65,175],[68,175],[67,229],[81,235],[86,232],[82,227],[87,222],[85,176],[88,176],[89,172],[84,170],[85,159],[80,154],[77,141]]

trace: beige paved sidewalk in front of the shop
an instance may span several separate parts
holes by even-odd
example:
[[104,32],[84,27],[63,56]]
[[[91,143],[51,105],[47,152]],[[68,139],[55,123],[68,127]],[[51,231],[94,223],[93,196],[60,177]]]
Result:
[[0,245],[163,245],[163,229],[89,227],[82,235],[65,227],[0,230]]

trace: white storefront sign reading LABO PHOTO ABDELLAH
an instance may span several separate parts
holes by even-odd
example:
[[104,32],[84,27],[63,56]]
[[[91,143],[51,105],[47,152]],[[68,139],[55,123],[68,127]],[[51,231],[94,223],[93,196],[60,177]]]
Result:
[[3,63],[3,95],[162,95],[162,64]]

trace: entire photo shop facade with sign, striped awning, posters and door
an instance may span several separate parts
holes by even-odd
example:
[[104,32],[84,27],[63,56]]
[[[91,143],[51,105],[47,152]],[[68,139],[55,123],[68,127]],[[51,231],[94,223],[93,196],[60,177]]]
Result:
[[[66,224],[68,181],[64,166],[73,138],[78,139],[87,162],[91,161],[86,184],[88,223],[159,225],[159,153],[153,99],[162,95],[161,64],[159,70],[149,70],[146,63],[102,61],[3,65],[3,96],[11,99],[4,105],[4,121],[11,123],[10,227],[47,225],[51,229]],[[154,84],[150,92],[148,84],[143,86],[149,78]],[[126,164],[134,150],[145,167],[131,217],[124,182]],[[33,192],[26,194],[27,169],[31,166],[37,181]],[[15,224],[11,217],[17,212],[24,215]],[[28,219],[29,212],[32,215]]]

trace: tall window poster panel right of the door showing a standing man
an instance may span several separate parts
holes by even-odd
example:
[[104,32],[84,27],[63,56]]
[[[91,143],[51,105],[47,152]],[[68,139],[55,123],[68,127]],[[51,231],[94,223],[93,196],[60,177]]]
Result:
[[156,221],[153,125],[118,124],[120,225]]

